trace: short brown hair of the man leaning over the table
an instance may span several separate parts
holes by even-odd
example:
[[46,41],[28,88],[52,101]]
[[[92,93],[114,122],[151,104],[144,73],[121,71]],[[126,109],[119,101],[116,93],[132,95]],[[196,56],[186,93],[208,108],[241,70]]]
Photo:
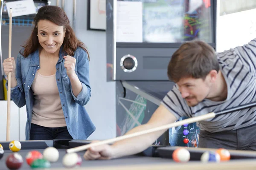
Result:
[[170,80],[178,82],[188,77],[205,79],[211,70],[219,71],[215,50],[206,42],[192,40],[172,55],[167,74]]

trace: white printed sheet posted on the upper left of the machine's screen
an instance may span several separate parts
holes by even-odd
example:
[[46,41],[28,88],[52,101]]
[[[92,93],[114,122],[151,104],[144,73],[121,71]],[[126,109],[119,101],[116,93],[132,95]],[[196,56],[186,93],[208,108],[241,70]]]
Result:
[[117,1],[116,42],[143,42],[143,3]]

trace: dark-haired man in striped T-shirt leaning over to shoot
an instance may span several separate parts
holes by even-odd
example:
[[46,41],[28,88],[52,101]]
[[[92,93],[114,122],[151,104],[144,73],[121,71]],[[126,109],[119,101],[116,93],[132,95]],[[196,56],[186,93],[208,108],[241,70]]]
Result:
[[[180,46],[168,65],[176,84],[151,119],[126,134],[175,122],[180,116],[200,116],[256,101],[256,39],[216,54],[194,40]],[[256,150],[256,108],[198,122],[199,147]],[[148,148],[165,130],[89,148],[85,159],[113,159]]]

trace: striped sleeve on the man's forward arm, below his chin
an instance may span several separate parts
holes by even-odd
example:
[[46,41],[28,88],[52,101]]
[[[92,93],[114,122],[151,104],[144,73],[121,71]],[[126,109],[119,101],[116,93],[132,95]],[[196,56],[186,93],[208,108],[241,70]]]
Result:
[[191,117],[189,116],[189,107],[180,95],[180,91],[177,89],[176,85],[166,94],[161,104],[175,115],[177,119],[183,116]]

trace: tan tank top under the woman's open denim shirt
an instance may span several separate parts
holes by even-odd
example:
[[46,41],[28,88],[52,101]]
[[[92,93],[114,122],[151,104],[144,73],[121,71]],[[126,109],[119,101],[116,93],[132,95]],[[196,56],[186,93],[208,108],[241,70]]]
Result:
[[32,108],[32,123],[44,127],[67,126],[61,108],[55,74],[44,76],[37,71],[31,88],[35,97]]

